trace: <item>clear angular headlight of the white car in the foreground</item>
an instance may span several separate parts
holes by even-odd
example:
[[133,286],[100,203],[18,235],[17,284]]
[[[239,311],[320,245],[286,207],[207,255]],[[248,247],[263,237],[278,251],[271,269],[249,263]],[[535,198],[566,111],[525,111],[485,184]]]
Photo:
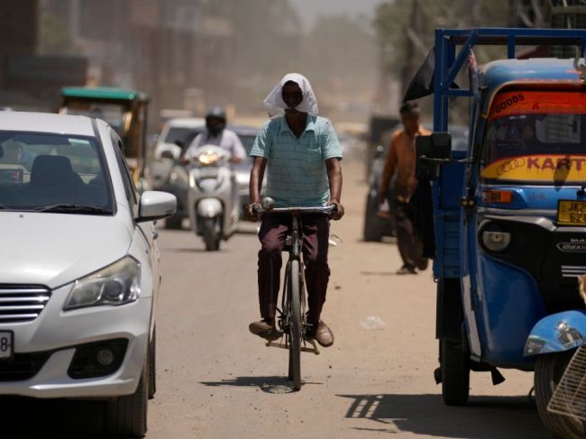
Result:
[[124,305],[140,294],[140,264],[125,256],[85,278],[75,281],[64,310],[98,305]]

